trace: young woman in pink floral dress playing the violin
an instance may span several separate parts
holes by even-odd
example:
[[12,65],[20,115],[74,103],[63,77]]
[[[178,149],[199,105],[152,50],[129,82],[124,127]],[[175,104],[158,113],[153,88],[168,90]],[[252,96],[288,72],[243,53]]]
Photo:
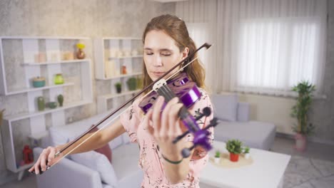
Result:
[[[176,16],[163,15],[153,18],[147,24],[143,32],[143,50],[143,86],[145,87],[186,58],[188,54],[196,51],[196,46],[188,35],[184,21]],[[176,71],[177,69],[168,75]],[[183,72],[186,72],[188,77],[197,84],[202,94],[201,99],[189,109],[191,114],[196,116],[196,113],[201,112],[205,107],[212,110],[211,101],[206,91],[202,89],[204,88],[204,71],[201,63],[194,61],[184,68]],[[196,147],[191,157],[182,157],[181,150],[192,145],[192,135],[187,135],[176,144],[172,143],[175,137],[186,131],[178,118],[178,111],[182,106],[178,103],[178,98],[169,101],[162,113],[164,99],[161,96],[146,115],[143,115],[141,108],[138,107],[139,103],[140,98],[136,99],[113,125],[98,132],[73,153],[95,150],[123,132],[127,132],[131,142],[137,142],[140,147],[139,166],[144,172],[142,187],[199,187],[199,172],[208,162],[206,151]],[[200,120],[200,127],[208,125],[212,117],[212,115],[203,117]],[[213,129],[210,128],[209,132],[213,140]],[[74,144],[68,150],[76,145],[78,144]],[[45,171],[47,165],[51,166],[61,158],[54,158],[54,155],[64,146],[46,148],[29,171],[39,174],[39,167]]]

